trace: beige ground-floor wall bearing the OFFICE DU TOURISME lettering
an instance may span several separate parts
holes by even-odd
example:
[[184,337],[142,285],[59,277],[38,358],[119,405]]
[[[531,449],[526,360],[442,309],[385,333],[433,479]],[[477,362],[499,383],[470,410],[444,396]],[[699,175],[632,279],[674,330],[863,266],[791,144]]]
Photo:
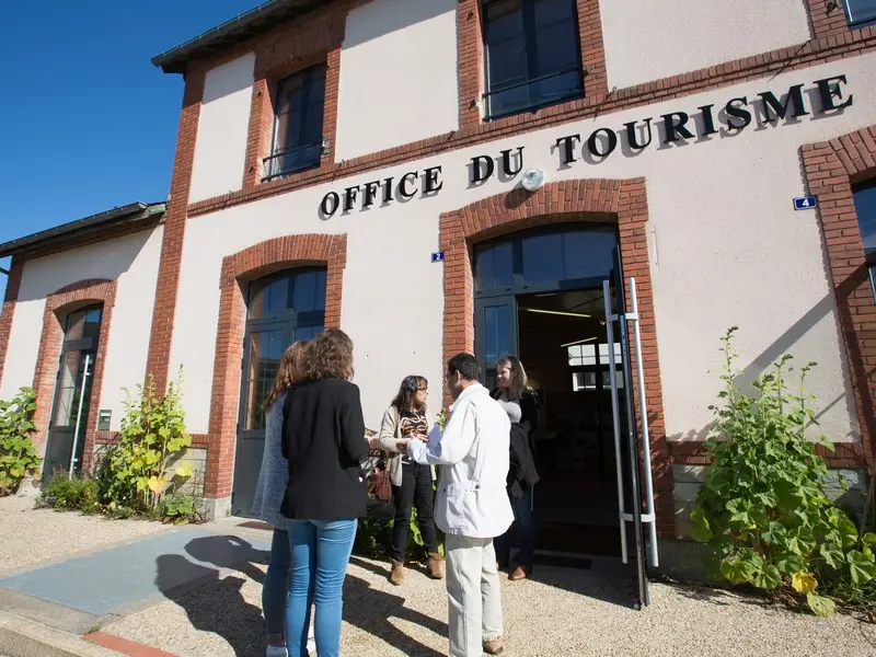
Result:
[[[752,124],[741,134],[667,146],[633,154],[623,143],[601,162],[560,165],[557,138],[600,127],[622,130],[626,122],[762,91],[776,95],[792,84],[845,73],[854,105],[831,116],[805,116],[779,126]],[[876,56],[748,82],[629,112],[573,122],[510,139],[373,171],[231,207],[189,219],[183,252],[171,367],[186,368],[186,408],[193,431],[206,431],[223,256],[270,238],[308,232],[348,233],[343,327],[356,342],[357,382],[366,420],[376,426],[399,380],[422,372],[435,389],[442,374],[442,270],[433,264],[438,221],[452,210],[509,192],[519,180],[494,177],[469,188],[466,164],[474,155],[498,157],[525,147],[527,166],[549,181],[645,176],[650,212],[649,253],[659,342],[666,427],[672,439],[699,436],[712,417],[718,391],[718,338],[740,326],[739,365],[749,373],[784,350],[816,360],[810,388],[826,411],[823,430],[853,439],[855,413],[841,346],[821,234],[815,212],[795,212],[804,194],[798,149],[876,123]],[[814,100],[807,94],[807,103]],[[426,166],[441,165],[443,188],[430,198],[333,218],[318,208],[330,191],[361,185]],[[400,302],[404,299],[404,302]]]

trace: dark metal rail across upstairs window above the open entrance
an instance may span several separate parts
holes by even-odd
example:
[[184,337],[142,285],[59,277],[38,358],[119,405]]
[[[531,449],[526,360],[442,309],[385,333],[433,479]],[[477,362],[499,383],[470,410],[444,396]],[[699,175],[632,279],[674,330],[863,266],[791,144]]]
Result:
[[502,118],[526,110],[535,111],[584,93],[584,77],[579,66],[545,76],[503,84],[483,94],[487,119]]

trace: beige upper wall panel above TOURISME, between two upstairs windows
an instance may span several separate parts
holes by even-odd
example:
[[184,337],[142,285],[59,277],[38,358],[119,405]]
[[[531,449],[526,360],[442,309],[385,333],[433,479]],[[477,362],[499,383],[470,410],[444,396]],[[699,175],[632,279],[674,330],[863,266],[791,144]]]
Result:
[[609,89],[802,44],[810,37],[805,4],[600,0]]

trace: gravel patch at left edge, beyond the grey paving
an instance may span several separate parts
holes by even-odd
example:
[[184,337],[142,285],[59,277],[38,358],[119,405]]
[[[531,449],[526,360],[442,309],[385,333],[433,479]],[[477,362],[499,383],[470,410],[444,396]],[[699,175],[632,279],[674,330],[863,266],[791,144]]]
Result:
[[165,530],[155,522],[34,509],[33,498],[0,497],[0,576]]

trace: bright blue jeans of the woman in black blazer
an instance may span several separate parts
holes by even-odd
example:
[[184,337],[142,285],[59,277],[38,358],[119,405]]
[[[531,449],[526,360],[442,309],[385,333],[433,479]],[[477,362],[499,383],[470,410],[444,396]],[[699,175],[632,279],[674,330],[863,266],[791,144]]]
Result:
[[289,657],[307,657],[310,602],[316,618],[316,654],[337,657],[341,652],[341,612],[356,520],[289,520],[292,577],[286,602],[286,648]]

